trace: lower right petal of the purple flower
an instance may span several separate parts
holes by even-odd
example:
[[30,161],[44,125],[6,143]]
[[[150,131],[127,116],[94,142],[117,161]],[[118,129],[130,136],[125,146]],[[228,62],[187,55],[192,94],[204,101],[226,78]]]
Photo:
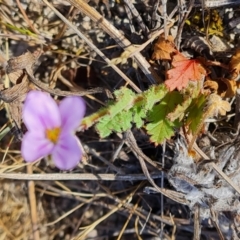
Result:
[[60,136],[59,142],[52,151],[52,159],[61,170],[69,170],[77,166],[82,158],[79,140],[75,135]]

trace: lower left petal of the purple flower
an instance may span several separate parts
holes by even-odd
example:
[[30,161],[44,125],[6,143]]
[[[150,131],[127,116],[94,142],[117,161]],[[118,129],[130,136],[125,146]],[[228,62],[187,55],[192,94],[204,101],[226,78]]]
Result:
[[25,161],[33,162],[49,155],[54,144],[47,140],[43,132],[29,131],[23,136],[21,153]]

